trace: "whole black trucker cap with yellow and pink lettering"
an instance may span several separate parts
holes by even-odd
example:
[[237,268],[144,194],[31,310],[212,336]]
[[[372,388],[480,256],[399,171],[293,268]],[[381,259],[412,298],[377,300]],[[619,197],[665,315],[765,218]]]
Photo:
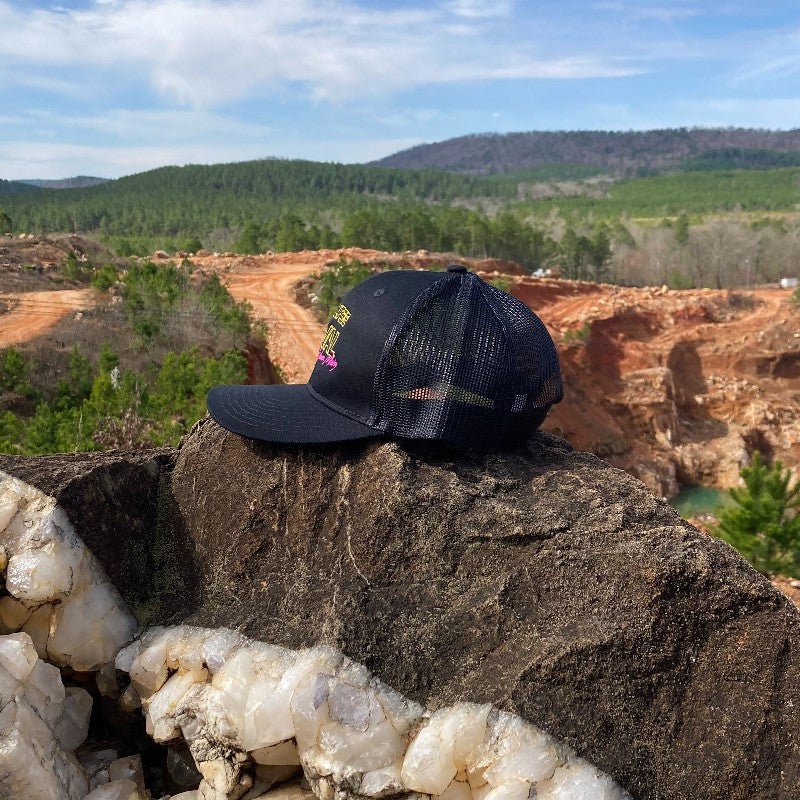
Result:
[[223,428],[268,442],[388,434],[495,447],[532,431],[562,395],[542,321],[452,265],[351,289],[307,384],[217,386],[207,403]]

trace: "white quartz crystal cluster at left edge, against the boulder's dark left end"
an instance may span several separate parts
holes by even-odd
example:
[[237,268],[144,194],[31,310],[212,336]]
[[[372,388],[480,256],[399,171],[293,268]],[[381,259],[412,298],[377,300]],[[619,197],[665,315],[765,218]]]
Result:
[[0,634],[24,631],[51,664],[114,660],[136,621],[55,500],[0,472]]

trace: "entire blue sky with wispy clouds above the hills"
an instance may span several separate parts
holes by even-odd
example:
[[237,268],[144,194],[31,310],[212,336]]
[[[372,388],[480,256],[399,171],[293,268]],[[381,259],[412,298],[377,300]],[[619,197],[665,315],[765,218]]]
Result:
[[6,179],[717,125],[800,127],[796,0],[0,0]]

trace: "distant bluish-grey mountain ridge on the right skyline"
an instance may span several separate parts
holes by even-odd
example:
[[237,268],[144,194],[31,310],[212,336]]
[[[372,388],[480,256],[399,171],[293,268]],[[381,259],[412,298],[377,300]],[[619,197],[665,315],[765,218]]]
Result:
[[592,166],[622,176],[667,170],[797,166],[800,129],[480,133],[417,145],[372,163],[474,175],[518,172],[550,164]]

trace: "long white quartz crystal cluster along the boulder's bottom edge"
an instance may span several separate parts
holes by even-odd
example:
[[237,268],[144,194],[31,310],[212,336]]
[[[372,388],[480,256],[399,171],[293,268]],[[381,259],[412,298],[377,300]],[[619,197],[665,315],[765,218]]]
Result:
[[183,738],[198,800],[260,796],[302,767],[322,800],[621,800],[626,793],[520,717],[461,703],[428,713],[328,647],[225,629],[153,629],[120,652],[159,742]]

